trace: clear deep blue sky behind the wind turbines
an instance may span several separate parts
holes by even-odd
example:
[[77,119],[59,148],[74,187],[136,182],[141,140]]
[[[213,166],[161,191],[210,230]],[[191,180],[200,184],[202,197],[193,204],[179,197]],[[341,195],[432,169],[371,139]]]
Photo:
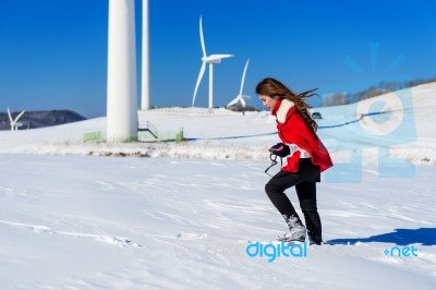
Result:
[[[266,76],[326,94],[436,76],[433,0],[149,0],[149,13],[152,106],[191,106],[199,15],[207,52],[235,56],[215,65],[216,106],[238,94],[247,58],[244,94],[255,107],[254,87]],[[0,111],[105,116],[107,24],[108,0],[0,0]],[[196,106],[207,106],[207,87],[206,71]]]

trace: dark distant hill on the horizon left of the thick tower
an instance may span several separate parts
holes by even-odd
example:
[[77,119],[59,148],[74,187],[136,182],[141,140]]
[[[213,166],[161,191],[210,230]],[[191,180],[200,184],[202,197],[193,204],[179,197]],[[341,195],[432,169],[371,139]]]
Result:
[[[20,112],[11,112],[16,118]],[[19,130],[60,125],[86,120],[85,117],[70,110],[26,111],[19,120],[23,125]],[[0,130],[11,130],[8,112],[0,112]]]

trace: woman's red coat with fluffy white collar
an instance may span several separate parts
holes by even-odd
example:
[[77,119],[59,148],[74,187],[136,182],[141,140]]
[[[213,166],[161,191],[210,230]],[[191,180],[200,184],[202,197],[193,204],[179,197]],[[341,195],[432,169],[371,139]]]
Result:
[[[295,144],[312,156],[312,162],[319,166],[319,171],[334,166],[327,148],[320,142],[316,133],[307,125],[303,116],[294,104],[288,99],[279,99],[271,111],[277,118],[277,130],[283,143]],[[288,157],[288,164],[283,171],[298,172],[300,165],[300,152]]]

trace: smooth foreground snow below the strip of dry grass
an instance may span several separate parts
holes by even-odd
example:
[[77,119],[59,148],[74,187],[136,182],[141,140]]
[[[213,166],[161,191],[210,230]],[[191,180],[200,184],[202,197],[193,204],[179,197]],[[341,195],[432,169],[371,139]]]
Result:
[[[263,192],[263,161],[38,155],[0,161],[9,165],[0,186],[1,289],[436,285],[434,167],[420,167],[413,180],[367,170],[361,184],[320,183],[324,239],[332,245],[268,263],[245,254],[249,240],[267,243],[284,230]],[[417,256],[386,256],[395,245],[413,245]]]

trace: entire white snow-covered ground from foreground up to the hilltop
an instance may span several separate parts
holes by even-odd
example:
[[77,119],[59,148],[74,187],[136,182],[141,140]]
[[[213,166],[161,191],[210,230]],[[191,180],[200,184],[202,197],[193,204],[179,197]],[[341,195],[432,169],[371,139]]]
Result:
[[436,289],[435,97],[317,109],[322,246],[274,242],[269,112],[140,112],[180,143],[83,143],[105,118],[0,132],[0,289]]

